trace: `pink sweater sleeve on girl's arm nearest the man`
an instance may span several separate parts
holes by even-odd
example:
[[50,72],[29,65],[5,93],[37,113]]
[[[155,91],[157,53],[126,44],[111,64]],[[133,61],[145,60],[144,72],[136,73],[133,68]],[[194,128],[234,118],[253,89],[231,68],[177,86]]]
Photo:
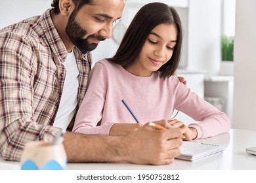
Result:
[[73,132],[90,135],[109,135],[114,122],[104,122],[104,124],[97,126],[102,119],[104,96],[108,87],[108,78],[106,76],[104,65],[96,63],[89,75],[89,85],[83,103],[77,112]]

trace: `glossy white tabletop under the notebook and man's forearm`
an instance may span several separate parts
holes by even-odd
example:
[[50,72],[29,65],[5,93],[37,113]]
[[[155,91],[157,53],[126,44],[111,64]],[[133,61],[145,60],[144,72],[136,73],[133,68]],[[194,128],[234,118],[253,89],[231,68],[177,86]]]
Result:
[[[199,159],[183,161],[175,159],[170,165],[135,165],[131,163],[68,163],[68,169],[74,170],[256,170],[256,156],[247,154],[245,148],[256,146],[256,131],[230,129],[228,133],[207,139],[195,140],[209,144],[225,146],[224,152]],[[0,159],[0,169],[20,169],[19,162]]]

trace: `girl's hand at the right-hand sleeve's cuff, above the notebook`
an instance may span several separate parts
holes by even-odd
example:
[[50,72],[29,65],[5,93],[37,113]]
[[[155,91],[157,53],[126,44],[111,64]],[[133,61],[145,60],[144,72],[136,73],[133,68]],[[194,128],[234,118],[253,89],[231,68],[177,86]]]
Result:
[[198,131],[194,127],[188,127],[187,125],[183,124],[183,122],[175,119],[175,120],[168,120],[169,124],[174,128],[181,128],[182,134],[184,137],[182,139],[184,141],[191,141],[196,139],[198,136]]

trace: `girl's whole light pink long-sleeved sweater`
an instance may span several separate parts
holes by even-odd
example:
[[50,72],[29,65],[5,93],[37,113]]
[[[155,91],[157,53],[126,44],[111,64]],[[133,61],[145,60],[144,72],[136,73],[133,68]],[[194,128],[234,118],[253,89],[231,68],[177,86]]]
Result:
[[[89,86],[77,112],[75,133],[108,135],[114,123],[135,123],[121,102],[125,99],[142,124],[169,120],[177,109],[194,120],[197,139],[212,137],[230,129],[230,121],[187,86],[177,76],[160,78],[135,76],[121,65],[98,61],[89,75]],[[186,124],[186,122],[184,122]]]

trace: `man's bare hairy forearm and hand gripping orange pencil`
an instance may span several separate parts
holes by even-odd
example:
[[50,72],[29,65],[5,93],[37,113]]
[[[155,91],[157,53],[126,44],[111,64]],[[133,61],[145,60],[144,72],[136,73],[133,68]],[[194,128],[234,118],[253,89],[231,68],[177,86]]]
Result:
[[181,129],[156,130],[148,124],[126,136],[66,133],[69,162],[117,162],[163,165],[180,154]]

